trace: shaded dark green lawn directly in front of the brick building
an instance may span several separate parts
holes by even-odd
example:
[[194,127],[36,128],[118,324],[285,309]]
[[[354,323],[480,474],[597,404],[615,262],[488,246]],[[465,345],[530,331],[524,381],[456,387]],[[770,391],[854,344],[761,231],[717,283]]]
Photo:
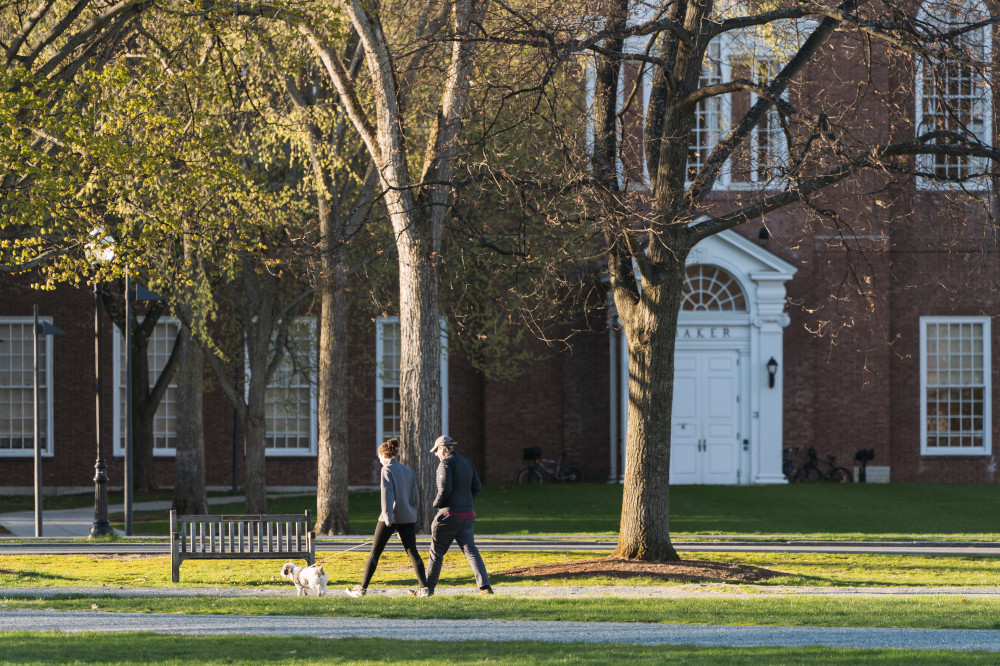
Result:
[[[617,534],[621,494],[620,485],[606,483],[486,486],[476,500],[476,531]],[[45,501],[48,506],[49,499]],[[112,497],[111,501],[119,500]],[[378,505],[377,492],[351,493],[351,523],[360,534],[374,530]],[[315,508],[315,499],[310,496],[268,502],[273,513],[315,512]],[[243,506],[213,505],[212,510],[240,513]],[[934,535],[1000,539],[1000,493],[991,485],[675,486],[670,491],[670,514],[676,537],[771,534],[871,539]],[[137,512],[134,531],[165,536],[167,517],[162,511]],[[120,524],[122,518],[112,516],[112,520]]]

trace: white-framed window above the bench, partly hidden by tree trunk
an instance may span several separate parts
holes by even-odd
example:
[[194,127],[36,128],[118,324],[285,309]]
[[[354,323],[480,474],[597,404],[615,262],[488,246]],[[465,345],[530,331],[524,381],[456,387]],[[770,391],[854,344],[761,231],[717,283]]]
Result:
[[265,396],[268,455],[315,455],[318,439],[316,393],[316,320],[300,317],[288,333],[281,365]]

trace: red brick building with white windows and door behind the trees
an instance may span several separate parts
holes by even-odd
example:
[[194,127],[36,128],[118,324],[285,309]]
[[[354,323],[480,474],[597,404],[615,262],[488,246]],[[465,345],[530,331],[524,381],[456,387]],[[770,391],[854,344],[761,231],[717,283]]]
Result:
[[[986,44],[992,36],[983,30],[978,38]],[[738,75],[748,67],[748,53],[758,58],[750,63],[753,71],[766,70],[770,56],[756,46],[747,49],[739,40],[714,45],[705,83]],[[974,74],[965,72],[963,85],[952,86],[923,76],[920,63],[836,63],[850,53],[831,49],[807,80],[827,89],[841,85],[844,98],[853,99],[848,83],[868,77],[873,89],[890,91],[885,97],[892,108],[902,110],[899,118],[884,120],[904,134],[952,122],[942,109],[959,96],[963,125],[992,141],[990,87]],[[839,79],[824,78],[824,67],[836,69]],[[648,83],[640,88],[648,95]],[[797,94],[807,98],[808,86]],[[750,101],[749,93],[733,93],[699,103],[692,163]],[[889,113],[886,108],[873,103],[856,112],[879,117]],[[878,123],[868,127],[881,131]],[[734,157],[713,201],[721,206],[767,187],[773,167],[787,160],[783,141],[776,118],[760,123],[754,150]],[[624,169],[636,171],[641,183],[648,176],[639,160]],[[961,177],[982,165],[971,157],[939,156],[918,160],[918,166]],[[919,178],[852,181],[814,202],[832,211],[825,218],[790,207],[696,248],[678,332],[672,482],[783,483],[783,449],[808,447],[848,466],[857,450],[873,449],[869,481],[996,482],[993,202],[988,183],[967,181],[965,189],[973,196],[962,203]],[[0,492],[32,486],[35,304],[66,331],[43,339],[43,485],[87,490],[96,440],[93,297],[70,287],[33,292],[23,281],[0,278]],[[163,322],[157,333],[154,368],[169,354],[172,326]],[[120,486],[122,352],[109,323],[104,330],[107,457],[111,485]],[[355,327],[353,335],[356,353],[345,379],[353,388],[349,479],[371,485],[375,447],[398,428],[398,325],[380,319]],[[526,446],[566,452],[589,480],[616,481],[626,455],[628,368],[613,303],[607,325],[578,334],[572,349],[537,343],[534,351],[540,360],[513,381],[484,377],[461,354],[449,354],[442,372],[447,432],[487,483],[511,482]],[[268,485],[310,487],[316,478],[315,395],[290,368],[279,375],[269,413]],[[208,484],[238,485],[242,447],[233,409],[218,392],[209,392],[204,409]],[[156,423],[161,486],[173,483],[176,418],[168,393]]]

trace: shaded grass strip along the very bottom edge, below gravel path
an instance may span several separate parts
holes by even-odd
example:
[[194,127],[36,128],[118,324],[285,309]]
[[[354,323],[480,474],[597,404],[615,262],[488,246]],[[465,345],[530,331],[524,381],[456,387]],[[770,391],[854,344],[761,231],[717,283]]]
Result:
[[154,634],[0,633],[6,664],[994,664],[983,652]]

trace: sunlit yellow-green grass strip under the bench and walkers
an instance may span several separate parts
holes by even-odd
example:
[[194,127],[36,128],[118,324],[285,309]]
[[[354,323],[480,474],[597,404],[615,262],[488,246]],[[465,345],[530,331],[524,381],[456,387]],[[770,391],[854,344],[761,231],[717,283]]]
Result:
[[[427,540],[421,550],[426,552]],[[335,554],[323,550],[323,562],[332,587],[358,582],[367,549]],[[483,559],[497,585],[672,585],[648,578],[586,576],[572,579],[536,579],[502,573],[506,569],[570,559],[601,557],[609,552],[484,551]],[[331,557],[332,556],[332,557]],[[739,562],[785,574],[753,587],[805,585],[813,587],[938,587],[998,586],[1000,559],[984,556],[917,556],[828,553],[685,553],[684,559]],[[329,559],[326,559],[329,558]],[[181,566],[181,584],[190,587],[276,587],[287,582],[279,575],[280,560],[195,560]],[[681,581],[683,582],[683,581]],[[382,556],[373,585],[413,586],[409,560],[401,552]],[[457,549],[445,558],[442,585],[471,585],[468,563]],[[101,555],[0,556],[0,587],[22,586],[170,587],[170,557]]]

